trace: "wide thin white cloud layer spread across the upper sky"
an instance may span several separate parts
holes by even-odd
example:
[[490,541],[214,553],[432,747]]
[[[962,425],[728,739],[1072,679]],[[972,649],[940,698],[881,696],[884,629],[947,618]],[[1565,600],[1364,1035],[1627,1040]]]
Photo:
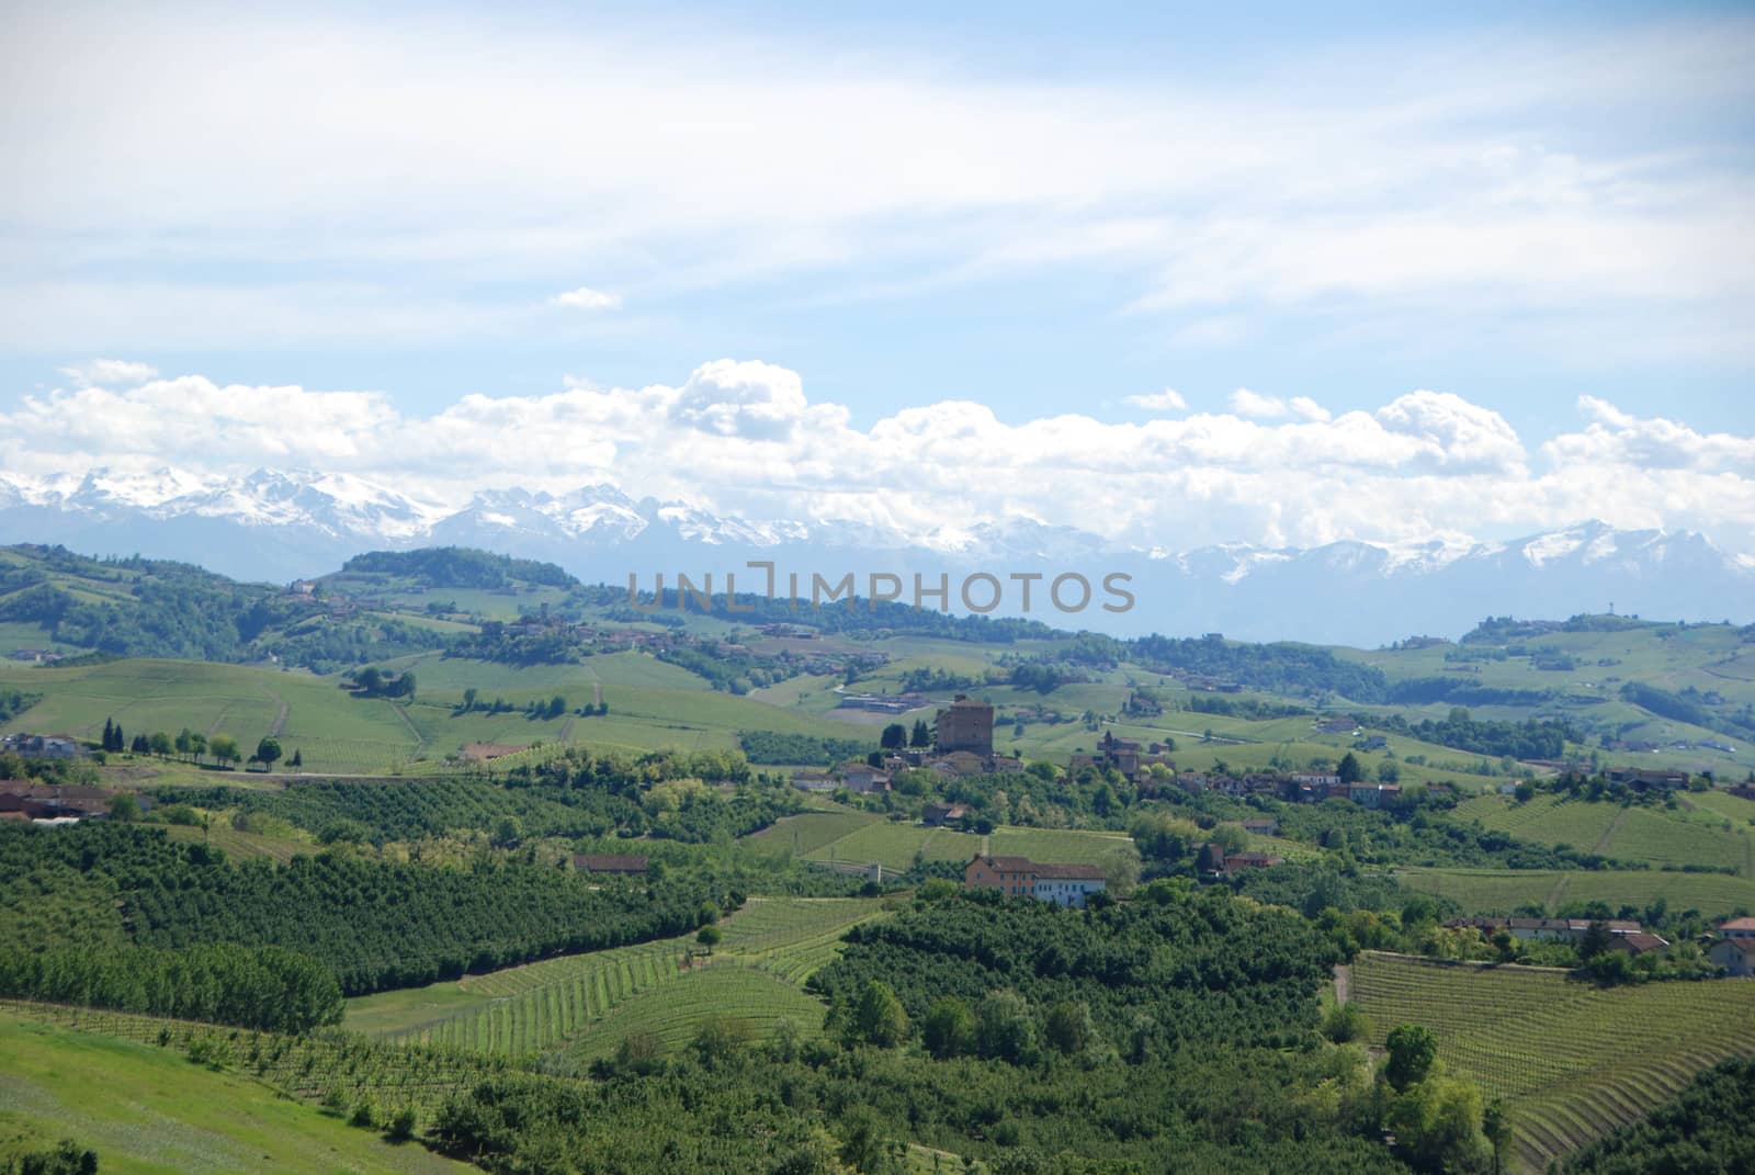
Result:
[[[865,263],[902,285],[1104,267],[1123,274],[1118,302],[1176,321],[1199,307],[1171,337],[1188,346],[1236,342],[1262,307],[1332,299],[1688,307],[1694,334],[1729,334],[1755,295],[1736,144],[1657,153],[1604,132],[1620,111],[1641,125],[1681,111],[1692,133],[1709,125],[1695,114],[1755,98],[1734,67],[1750,39],[1737,19],[1580,30],[1565,54],[1539,39],[1381,46],[1402,68],[1374,68],[1371,88],[1329,51],[1248,84],[1020,81],[583,18],[537,33],[453,14],[416,49],[397,21],[340,11],[93,19],[72,4],[18,32],[0,49],[14,148],[0,223],[23,258],[5,299],[30,316],[14,344],[107,339],[116,314],[93,323],[90,302],[153,306],[156,286],[184,285],[183,263],[214,260],[263,267],[256,295],[293,304],[290,337],[351,334],[319,290],[277,285],[288,258],[370,272],[372,297],[402,304],[398,335],[495,328],[430,313],[449,293],[435,272],[551,290],[584,267],[653,290],[642,302]],[[165,313],[183,332],[235,339],[228,290],[197,285],[184,302]]]

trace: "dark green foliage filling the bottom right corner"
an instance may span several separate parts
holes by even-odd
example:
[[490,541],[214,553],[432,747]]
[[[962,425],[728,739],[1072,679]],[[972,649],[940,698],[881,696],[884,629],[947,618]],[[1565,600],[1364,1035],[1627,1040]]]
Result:
[[1755,1171],[1755,1059],[1706,1070],[1643,1122],[1565,1161],[1567,1175]]

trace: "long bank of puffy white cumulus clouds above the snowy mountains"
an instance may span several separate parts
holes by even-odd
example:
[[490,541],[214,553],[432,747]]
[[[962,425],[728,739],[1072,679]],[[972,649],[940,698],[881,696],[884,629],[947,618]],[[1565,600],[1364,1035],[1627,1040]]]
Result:
[[1702,529],[1755,551],[1755,437],[1587,400],[1583,427],[1548,437],[1532,458],[1499,413],[1457,393],[1409,392],[1332,418],[1313,407],[1002,422],[986,404],[941,400],[855,427],[844,406],[811,404],[797,372],[732,358],[674,386],[567,381],[546,395],[467,395],[428,414],[376,392],[177,376],[23,397],[0,413],[0,467],[316,467],[435,506],[484,488],[612,483],[755,520],[858,522],[944,541],[1020,518],[1186,548],[1508,537],[1595,516]]

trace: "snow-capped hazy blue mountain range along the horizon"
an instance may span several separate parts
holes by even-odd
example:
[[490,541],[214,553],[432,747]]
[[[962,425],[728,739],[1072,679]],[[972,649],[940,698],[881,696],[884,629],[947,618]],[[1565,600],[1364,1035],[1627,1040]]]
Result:
[[[177,469],[26,478],[0,472],[0,543],[60,543],[95,555],[181,559],[242,580],[321,574],[363,550],[474,546],[555,562],[586,581],[649,588],[663,573],[697,583],[727,571],[739,590],[770,560],[784,585],[799,573],[890,573],[935,585],[949,576],[951,606],[974,571],[1006,588],[995,615],[1018,615],[1011,573],[1092,580],[1092,604],[1062,613],[1037,583],[1032,615],[1057,627],[1116,634],[1225,632],[1239,639],[1302,639],[1376,646],[1413,634],[1457,636],[1488,615],[1565,616],[1585,611],[1685,620],[1755,620],[1755,559],[1697,532],[1620,530],[1583,522],[1504,543],[1362,541],[1314,548],[1204,546],[1188,551],[1118,546],[1076,527],[1032,520],[902,534],[856,522],[751,520],[684,502],[632,499],[614,487],[569,494],[484,490],[460,509],[416,501],[347,474],[258,469],[216,478]],[[1102,578],[1132,576],[1135,604],[1106,613]],[[904,588],[911,599],[911,587]],[[990,588],[974,590],[985,602]],[[1076,595],[1069,585],[1067,599]],[[927,606],[935,606],[928,601]]]

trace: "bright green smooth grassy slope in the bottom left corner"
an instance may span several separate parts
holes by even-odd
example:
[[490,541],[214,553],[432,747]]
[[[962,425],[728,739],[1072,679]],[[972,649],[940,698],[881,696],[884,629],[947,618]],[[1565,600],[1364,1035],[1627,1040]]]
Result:
[[0,1017],[0,1164],[74,1138],[105,1175],[472,1171],[179,1052]]

